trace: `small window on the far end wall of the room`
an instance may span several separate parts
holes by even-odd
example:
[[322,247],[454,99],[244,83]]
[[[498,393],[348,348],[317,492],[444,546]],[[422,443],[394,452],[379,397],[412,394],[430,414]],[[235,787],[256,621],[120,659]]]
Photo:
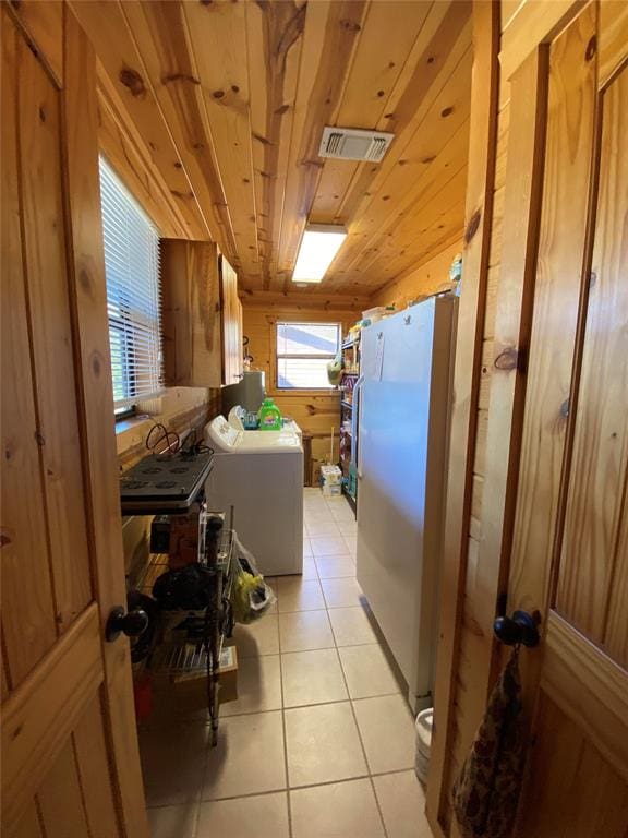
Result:
[[339,323],[277,323],[277,387],[330,387],[327,364],[339,345]]

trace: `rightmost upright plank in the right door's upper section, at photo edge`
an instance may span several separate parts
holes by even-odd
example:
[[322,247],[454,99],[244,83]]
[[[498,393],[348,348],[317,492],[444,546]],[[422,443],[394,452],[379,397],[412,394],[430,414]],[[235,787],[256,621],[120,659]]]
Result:
[[[600,192],[556,608],[604,642],[628,474],[628,70],[602,97]],[[621,614],[615,609],[616,620]],[[628,609],[615,636],[628,632]],[[626,665],[628,661],[624,661]]]

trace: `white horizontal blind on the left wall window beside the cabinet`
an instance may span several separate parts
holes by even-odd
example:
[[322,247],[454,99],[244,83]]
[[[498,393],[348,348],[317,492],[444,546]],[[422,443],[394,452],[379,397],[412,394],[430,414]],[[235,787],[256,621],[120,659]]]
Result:
[[100,195],[118,410],[154,398],[164,386],[159,234],[102,157]]

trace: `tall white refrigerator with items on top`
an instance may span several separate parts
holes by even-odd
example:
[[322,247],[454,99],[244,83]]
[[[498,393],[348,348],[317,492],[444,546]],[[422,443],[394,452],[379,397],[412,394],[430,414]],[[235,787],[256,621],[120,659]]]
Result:
[[433,704],[457,303],[432,297],[361,336],[358,580],[414,709]]

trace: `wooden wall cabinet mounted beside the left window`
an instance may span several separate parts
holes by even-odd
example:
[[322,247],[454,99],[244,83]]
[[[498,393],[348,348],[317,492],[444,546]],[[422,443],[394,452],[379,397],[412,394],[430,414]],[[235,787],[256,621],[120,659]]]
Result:
[[166,384],[232,384],[242,364],[235,272],[210,241],[164,239],[161,260]]

